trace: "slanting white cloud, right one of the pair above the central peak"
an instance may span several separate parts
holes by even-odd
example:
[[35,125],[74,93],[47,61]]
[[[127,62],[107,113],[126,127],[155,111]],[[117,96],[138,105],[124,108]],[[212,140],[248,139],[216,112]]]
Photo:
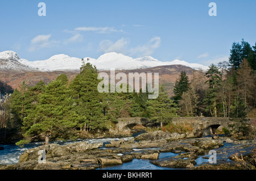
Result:
[[132,48],[131,54],[137,54],[137,56],[150,56],[155,49],[160,47],[161,38],[156,36],[153,37],[150,41],[148,41],[144,45],[139,45],[136,48]]

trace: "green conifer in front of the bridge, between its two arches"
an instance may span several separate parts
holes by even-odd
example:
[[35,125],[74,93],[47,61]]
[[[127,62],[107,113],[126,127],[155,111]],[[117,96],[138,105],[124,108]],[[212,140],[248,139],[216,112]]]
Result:
[[147,101],[147,112],[150,120],[160,123],[160,127],[176,116],[176,110],[176,104],[169,98],[163,85],[160,86],[158,98]]

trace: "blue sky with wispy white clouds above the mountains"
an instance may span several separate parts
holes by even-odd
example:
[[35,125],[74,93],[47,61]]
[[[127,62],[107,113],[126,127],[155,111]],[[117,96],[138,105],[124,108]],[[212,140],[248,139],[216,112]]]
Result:
[[[43,2],[44,6],[39,3]],[[212,11],[214,2],[216,11]],[[40,6],[39,6],[40,5]],[[210,16],[216,12],[216,16]],[[40,16],[45,13],[45,16]],[[228,61],[234,41],[256,42],[255,0],[1,0],[0,52],[29,61],[55,54]]]

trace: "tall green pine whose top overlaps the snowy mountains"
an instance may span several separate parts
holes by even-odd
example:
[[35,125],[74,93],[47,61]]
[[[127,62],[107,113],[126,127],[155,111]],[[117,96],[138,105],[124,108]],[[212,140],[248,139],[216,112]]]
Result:
[[80,125],[89,125],[91,129],[108,129],[108,117],[106,116],[106,93],[97,90],[98,78],[96,66],[89,62],[82,63],[80,74],[71,83],[73,96],[75,98],[76,112],[85,116]]

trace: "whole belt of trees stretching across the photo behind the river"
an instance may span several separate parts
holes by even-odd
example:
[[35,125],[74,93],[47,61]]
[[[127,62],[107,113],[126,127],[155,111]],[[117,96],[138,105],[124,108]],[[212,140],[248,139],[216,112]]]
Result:
[[75,140],[82,131],[108,131],[118,117],[147,117],[160,127],[177,116],[255,117],[256,43],[251,47],[243,39],[233,43],[229,62],[212,64],[190,79],[181,71],[171,98],[164,85],[159,86],[157,99],[148,99],[150,93],[142,91],[100,93],[97,77],[97,68],[82,60],[80,73],[72,80],[61,74],[47,85],[39,81],[27,86],[23,81],[14,91],[1,85],[13,93],[1,104],[0,140],[12,131],[22,133],[17,145],[42,137],[46,143]]

